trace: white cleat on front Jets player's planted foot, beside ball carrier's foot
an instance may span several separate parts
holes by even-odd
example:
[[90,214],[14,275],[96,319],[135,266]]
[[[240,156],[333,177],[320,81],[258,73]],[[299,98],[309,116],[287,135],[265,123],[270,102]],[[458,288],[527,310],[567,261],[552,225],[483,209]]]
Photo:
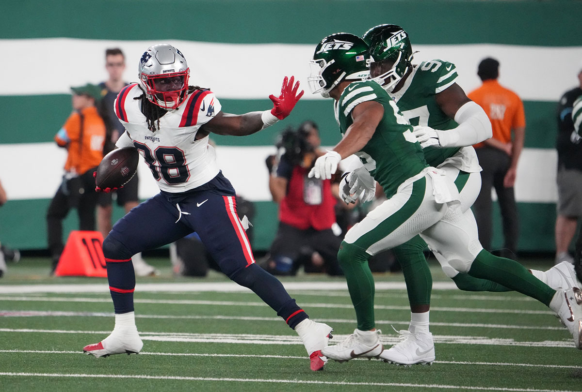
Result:
[[378,358],[384,350],[380,341],[381,333],[379,329],[374,333],[354,329],[354,333],[346,340],[336,346],[325,347],[321,353],[338,362],[346,362],[354,358]]

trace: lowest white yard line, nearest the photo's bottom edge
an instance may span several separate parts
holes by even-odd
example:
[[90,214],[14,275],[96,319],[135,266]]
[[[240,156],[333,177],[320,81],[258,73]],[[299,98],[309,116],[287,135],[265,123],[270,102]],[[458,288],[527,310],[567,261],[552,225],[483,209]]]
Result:
[[511,391],[511,392],[574,392],[569,390],[555,389],[521,389],[502,387],[474,387],[446,384],[413,384],[413,383],[369,383],[369,382],[347,382],[347,381],[318,381],[318,380],[274,380],[274,379],[238,379],[238,378],[217,378],[217,377],[186,377],[186,376],[150,376],[150,375],[114,375],[114,374],[86,374],[86,373],[14,373],[0,372],[0,376],[21,376],[21,377],[72,377],[72,378],[108,378],[108,379],[147,379],[147,380],[183,380],[183,381],[216,381],[216,382],[244,382],[244,383],[272,383],[272,384],[316,384],[316,385],[352,385],[352,386],[391,386],[391,387],[411,387],[430,388],[444,390],[484,390],[484,391]]

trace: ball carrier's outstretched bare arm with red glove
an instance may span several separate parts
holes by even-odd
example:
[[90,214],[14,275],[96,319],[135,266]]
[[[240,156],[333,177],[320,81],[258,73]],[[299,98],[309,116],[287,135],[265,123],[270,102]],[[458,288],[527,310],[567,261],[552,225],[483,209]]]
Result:
[[304,91],[301,90],[297,93],[298,90],[299,81],[295,82],[293,76],[291,78],[285,77],[279,96],[269,95],[269,99],[273,102],[271,110],[245,114],[219,112],[212,120],[203,125],[201,131],[205,134],[212,132],[218,135],[232,136],[254,134],[289,116],[297,101],[303,96]]

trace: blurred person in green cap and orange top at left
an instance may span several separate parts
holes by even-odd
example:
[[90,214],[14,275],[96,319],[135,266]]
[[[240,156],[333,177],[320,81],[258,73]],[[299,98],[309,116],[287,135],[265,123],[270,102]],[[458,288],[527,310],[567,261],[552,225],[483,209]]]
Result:
[[76,208],[80,230],[95,230],[95,192],[93,172],[103,158],[105,124],[95,102],[101,99],[101,89],[93,84],[72,87],[73,113],[55,135],[59,147],[68,155],[65,175],[47,211],[48,247],[52,257],[52,272],[63,251],[62,221],[70,208]]

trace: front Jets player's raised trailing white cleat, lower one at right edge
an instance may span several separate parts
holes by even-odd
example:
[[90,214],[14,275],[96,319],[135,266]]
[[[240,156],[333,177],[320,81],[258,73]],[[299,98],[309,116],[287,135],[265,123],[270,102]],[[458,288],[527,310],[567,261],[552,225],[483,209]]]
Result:
[[580,289],[574,287],[557,290],[550,308],[558,314],[562,324],[572,334],[576,348],[582,350],[582,292]]

